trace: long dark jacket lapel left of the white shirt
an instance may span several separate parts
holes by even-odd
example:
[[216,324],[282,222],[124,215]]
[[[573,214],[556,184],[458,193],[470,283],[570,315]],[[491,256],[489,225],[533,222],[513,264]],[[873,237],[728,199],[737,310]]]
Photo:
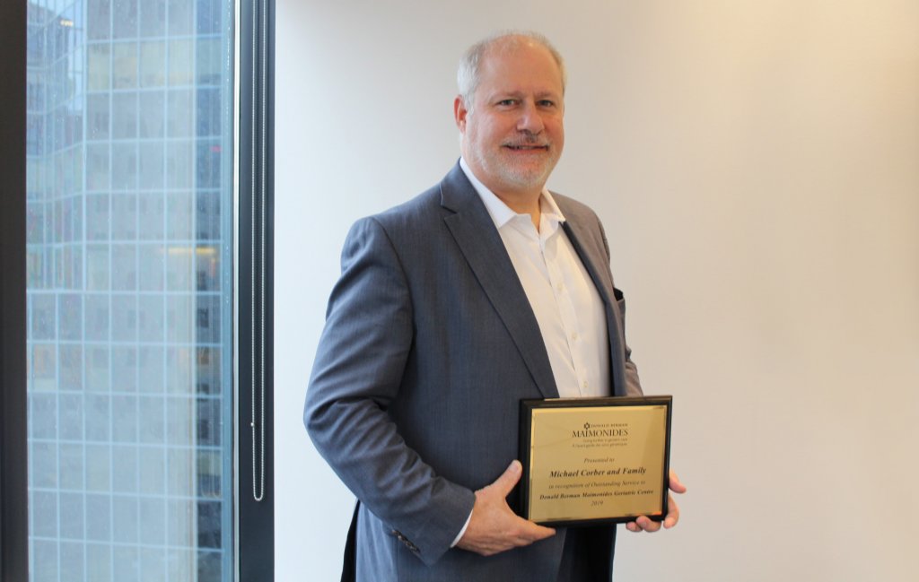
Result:
[[440,183],[440,196],[441,206],[452,212],[444,217],[444,222],[504,322],[533,382],[543,397],[559,397],[549,355],[527,294],[488,210],[459,164]]

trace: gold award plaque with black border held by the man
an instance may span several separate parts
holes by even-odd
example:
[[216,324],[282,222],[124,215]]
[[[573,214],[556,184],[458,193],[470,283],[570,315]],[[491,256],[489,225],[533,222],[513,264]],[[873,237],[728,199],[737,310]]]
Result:
[[521,400],[521,516],[550,527],[663,520],[672,400]]

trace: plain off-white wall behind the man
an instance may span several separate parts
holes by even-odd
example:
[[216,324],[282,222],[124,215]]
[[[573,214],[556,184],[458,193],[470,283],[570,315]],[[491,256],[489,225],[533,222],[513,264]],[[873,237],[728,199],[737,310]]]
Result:
[[675,397],[683,520],[618,579],[915,579],[919,3],[562,4],[278,0],[277,579],[337,579],[350,516],[301,424],[346,229],[447,172],[455,63],[508,27],[568,59],[550,186]]

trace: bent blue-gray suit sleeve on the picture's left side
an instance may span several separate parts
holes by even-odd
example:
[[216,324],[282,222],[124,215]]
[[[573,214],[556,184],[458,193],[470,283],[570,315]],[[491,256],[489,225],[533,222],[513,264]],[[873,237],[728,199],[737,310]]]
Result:
[[437,476],[387,413],[402,385],[413,329],[397,252],[376,219],[358,221],[329,299],[304,423],[345,485],[433,564],[469,517],[475,495]]

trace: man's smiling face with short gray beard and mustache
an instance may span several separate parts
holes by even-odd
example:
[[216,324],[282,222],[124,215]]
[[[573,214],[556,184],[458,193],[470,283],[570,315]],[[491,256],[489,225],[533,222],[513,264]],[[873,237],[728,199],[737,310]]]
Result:
[[470,112],[454,114],[472,173],[499,197],[539,194],[562,155],[562,72],[549,50],[530,42],[488,51]]

